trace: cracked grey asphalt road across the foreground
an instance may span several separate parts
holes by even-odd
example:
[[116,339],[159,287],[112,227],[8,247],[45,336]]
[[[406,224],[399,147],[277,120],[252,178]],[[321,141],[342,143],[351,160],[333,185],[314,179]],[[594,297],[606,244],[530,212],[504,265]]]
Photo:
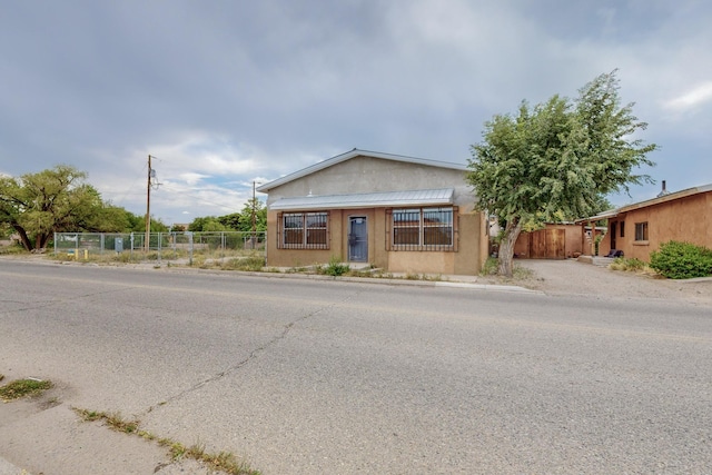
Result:
[[[46,413],[264,474],[709,474],[711,362],[712,308],[682,300],[0,261],[0,373],[55,382]],[[0,457],[71,473],[23,436],[38,410],[0,417]]]

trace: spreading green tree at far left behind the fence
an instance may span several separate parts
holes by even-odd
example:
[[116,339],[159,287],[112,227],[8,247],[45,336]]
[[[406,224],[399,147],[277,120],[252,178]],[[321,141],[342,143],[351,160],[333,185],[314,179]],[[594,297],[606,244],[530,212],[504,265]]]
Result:
[[27,250],[46,247],[53,232],[122,230],[125,211],[105,204],[86,177],[67,165],[0,177],[0,222],[18,234]]

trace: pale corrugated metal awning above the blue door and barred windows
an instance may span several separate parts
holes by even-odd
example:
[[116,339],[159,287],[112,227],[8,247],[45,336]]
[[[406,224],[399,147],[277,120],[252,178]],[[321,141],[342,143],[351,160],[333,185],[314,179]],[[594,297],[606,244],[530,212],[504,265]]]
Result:
[[454,188],[280,198],[269,209],[310,210],[452,205]]

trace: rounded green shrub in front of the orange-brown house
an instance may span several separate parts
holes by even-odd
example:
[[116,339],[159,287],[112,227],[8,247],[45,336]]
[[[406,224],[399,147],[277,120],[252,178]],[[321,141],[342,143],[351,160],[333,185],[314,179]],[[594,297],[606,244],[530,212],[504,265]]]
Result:
[[651,253],[650,267],[670,279],[712,276],[712,249],[671,240]]

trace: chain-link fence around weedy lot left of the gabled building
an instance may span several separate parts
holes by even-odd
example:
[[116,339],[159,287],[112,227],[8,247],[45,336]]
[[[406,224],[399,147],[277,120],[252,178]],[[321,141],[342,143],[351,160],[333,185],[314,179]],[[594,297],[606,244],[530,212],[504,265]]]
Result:
[[192,265],[265,255],[265,232],[55,232],[55,256],[76,260],[168,260]]

